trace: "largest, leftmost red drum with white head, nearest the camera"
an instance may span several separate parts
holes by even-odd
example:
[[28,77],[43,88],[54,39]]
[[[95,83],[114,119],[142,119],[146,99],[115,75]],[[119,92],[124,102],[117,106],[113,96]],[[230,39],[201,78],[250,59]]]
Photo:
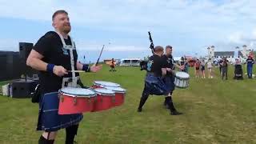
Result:
[[64,87],[59,90],[58,114],[79,114],[93,110],[94,90]]

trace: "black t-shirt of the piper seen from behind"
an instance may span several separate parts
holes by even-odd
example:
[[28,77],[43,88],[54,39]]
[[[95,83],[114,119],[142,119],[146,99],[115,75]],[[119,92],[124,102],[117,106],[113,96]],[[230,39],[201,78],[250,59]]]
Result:
[[157,77],[161,77],[162,68],[163,68],[162,58],[156,54],[152,55],[149,58],[149,62],[147,62],[147,71],[154,73],[154,75]]

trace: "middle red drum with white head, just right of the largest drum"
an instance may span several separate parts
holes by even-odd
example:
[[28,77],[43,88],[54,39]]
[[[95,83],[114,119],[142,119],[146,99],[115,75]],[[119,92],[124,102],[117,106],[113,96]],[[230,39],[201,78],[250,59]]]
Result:
[[114,91],[104,88],[94,89],[97,96],[94,102],[94,111],[108,110],[114,106]]

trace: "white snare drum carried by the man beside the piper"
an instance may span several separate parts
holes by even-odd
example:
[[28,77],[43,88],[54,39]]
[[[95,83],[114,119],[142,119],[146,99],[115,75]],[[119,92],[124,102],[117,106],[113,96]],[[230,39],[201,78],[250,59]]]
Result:
[[186,88],[189,86],[189,81],[190,81],[190,75],[179,71],[175,74],[175,80],[174,80],[174,84],[175,86],[177,86],[178,88]]

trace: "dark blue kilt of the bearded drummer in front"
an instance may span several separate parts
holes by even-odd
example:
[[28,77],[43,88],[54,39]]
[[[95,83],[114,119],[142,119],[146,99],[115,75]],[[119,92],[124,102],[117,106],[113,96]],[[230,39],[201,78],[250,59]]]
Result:
[[58,92],[43,94],[39,102],[37,130],[57,131],[78,124],[82,114],[58,114]]

